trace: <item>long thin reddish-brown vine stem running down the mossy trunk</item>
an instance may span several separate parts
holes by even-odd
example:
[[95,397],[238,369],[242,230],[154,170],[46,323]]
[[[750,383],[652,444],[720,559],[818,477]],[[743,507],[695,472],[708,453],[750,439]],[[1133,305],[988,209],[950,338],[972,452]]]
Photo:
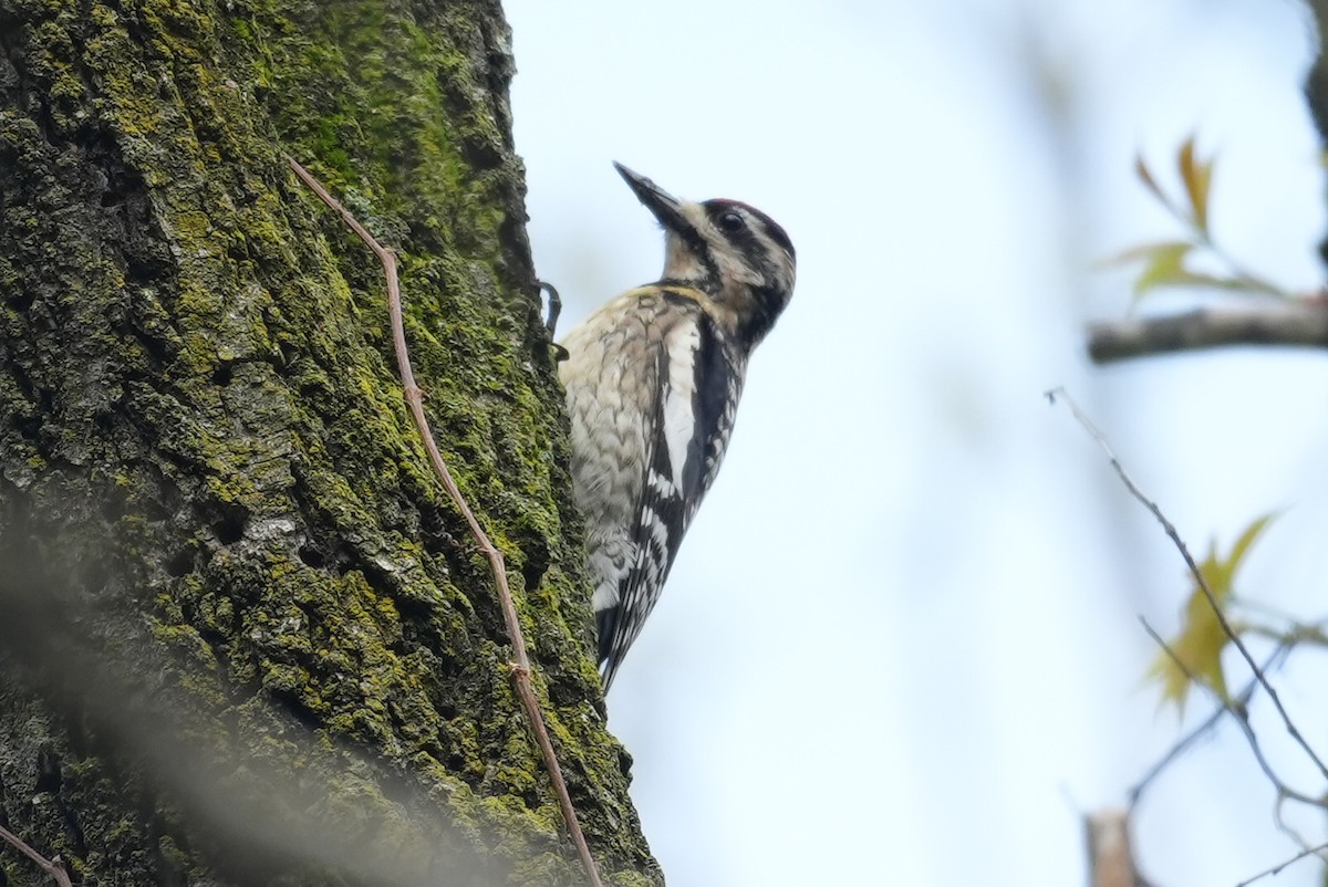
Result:
[[507,635],[511,639],[513,653],[517,661],[511,663],[511,680],[513,685],[517,688],[517,696],[521,698],[523,708],[526,709],[526,716],[530,720],[530,726],[535,733],[535,741],[539,745],[539,750],[544,758],[544,766],[548,769],[548,777],[554,783],[554,793],[558,795],[558,803],[563,810],[563,819],[567,822],[567,831],[571,834],[572,843],[576,845],[576,852],[580,855],[582,864],[586,867],[586,874],[590,876],[590,883],[592,887],[602,887],[599,878],[599,868],[595,864],[595,858],[590,854],[590,847],[586,843],[586,835],[582,833],[580,821],[576,818],[576,807],[572,806],[571,794],[567,791],[567,782],[563,779],[562,766],[558,764],[558,754],[554,752],[552,740],[548,736],[548,726],[544,724],[544,713],[539,708],[539,701],[535,698],[535,692],[530,684],[530,657],[526,655],[526,640],[521,631],[521,621],[517,617],[517,605],[511,599],[511,590],[507,587],[507,570],[503,563],[502,552],[489,540],[489,535],[479,526],[479,521],[475,519],[474,513],[466,503],[465,497],[457,487],[457,482],[453,481],[452,473],[448,470],[446,462],[442,459],[442,454],[438,451],[438,445],[433,440],[433,432],[429,430],[429,420],[424,414],[424,392],[416,385],[414,372],[410,369],[410,355],[406,348],[406,333],[405,324],[401,317],[401,287],[397,280],[397,258],[396,254],[380,244],[373,235],[371,235],[364,226],[356,220],[349,211],[343,207],[336,198],[328,194],[317,179],[315,179],[308,170],[300,166],[295,158],[286,155],[286,162],[291,165],[291,169],[300,181],[304,182],[309,190],[319,195],[333,212],[341,216],[352,231],[364,240],[365,246],[373,251],[373,255],[378,256],[378,262],[382,263],[382,272],[388,282],[388,312],[392,319],[392,344],[397,353],[397,370],[401,374],[401,388],[405,392],[406,404],[410,408],[410,416],[414,418],[416,429],[420,432],[420,438],[424,441],[425,450],[429,454],[429,463],[433,466],[434,474],[438,475],[438,481],[442,483],[444,490],[452,497],[457,509],[461,511],[462,517],[466,519],[466,524],[470,527],[470,535],[474,538],[475,544],[479,550],[485,552],[485,558],[489,560],[489,570],[493,572],[494,586],[498,588],[498,603],[502,607],[503,620],[507,623]]

